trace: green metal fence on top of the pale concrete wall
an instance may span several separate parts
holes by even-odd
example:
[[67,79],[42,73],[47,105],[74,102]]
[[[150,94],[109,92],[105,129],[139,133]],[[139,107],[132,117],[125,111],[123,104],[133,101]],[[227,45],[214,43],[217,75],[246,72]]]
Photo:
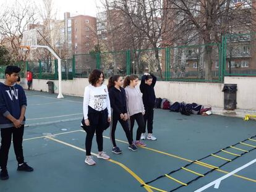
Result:
[[[62,79],[88,78],[100,69],[106,78],[131,73],[142,76],[145,67],[158,80],[223,82],[224,76],[256,76],[256,33],[224,35],[219,44],[198,44],[159,49],[127,50],[74,55],[62,60]],[[20,62],[22,74],[31,70],[34,78],[58,79],[58,62]],[[0,75],[1,72],[0,68]]]

